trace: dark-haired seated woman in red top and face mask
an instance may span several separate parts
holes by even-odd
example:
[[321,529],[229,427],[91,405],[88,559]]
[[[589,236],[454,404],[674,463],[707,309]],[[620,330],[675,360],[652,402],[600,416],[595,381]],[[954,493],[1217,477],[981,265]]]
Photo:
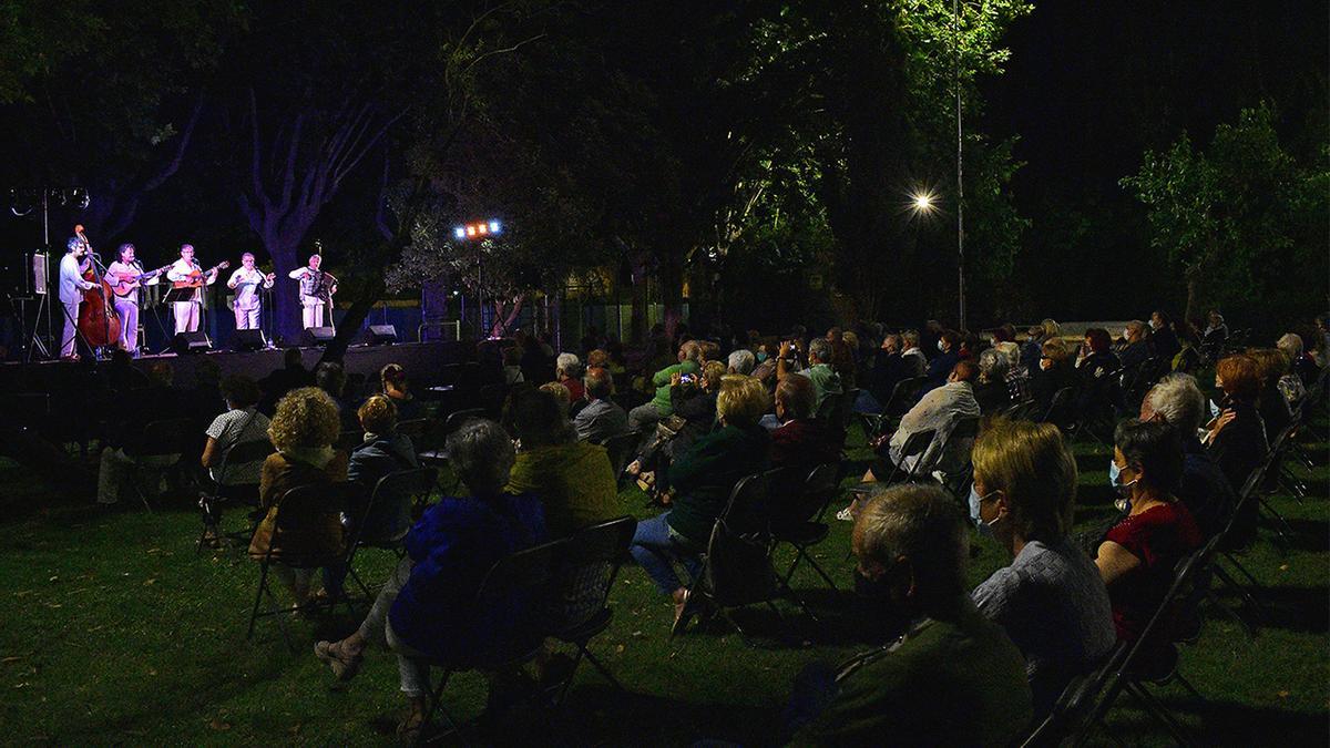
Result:
[[1174,567],[1201,546],[1201,531],[1176,491],[1182,441],[1173,426],[1128,419],[1117,425],[1109,479],[1128,512],[1095,554],[1113,603],[1117,639],[1136,642],[1168,594]]

